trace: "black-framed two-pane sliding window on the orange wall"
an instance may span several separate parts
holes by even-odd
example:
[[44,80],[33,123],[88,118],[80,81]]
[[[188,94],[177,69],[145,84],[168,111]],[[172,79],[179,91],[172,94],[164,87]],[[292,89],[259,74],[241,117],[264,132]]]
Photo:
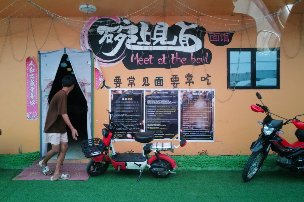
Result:
[[227,89],[280,89],[280,48],[227,48]]

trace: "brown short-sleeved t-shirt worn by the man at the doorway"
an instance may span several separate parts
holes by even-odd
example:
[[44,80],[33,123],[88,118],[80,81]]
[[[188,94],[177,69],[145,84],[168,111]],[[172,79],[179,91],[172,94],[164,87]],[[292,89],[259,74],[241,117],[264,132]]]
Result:
[[66,123],[61,114],[67,114],[67,93],[64,90],[58,91],[50,101],[43,132],[67,132]]

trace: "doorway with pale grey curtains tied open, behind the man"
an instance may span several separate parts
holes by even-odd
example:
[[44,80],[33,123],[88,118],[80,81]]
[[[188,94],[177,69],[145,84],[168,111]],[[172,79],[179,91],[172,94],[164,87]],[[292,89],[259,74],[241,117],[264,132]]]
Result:
[[[40,157],[43,158],[48,144],[44,143],[43,132],[50,100],[62,89],[62,78],[71,75],[76,78],[74,89],[67,96],[67,113],[73,127],[78,131],[78,141],[71,136],[67,127],[69,149],[65,158],[85,158],[81,142],[92,138],[93,123],[93,57],[91,51],[62,48],[56,51],[39,51],[40,87]],[[56,156],[57,157],[57,156]],[[54,157],[55,158],[55,157]]]

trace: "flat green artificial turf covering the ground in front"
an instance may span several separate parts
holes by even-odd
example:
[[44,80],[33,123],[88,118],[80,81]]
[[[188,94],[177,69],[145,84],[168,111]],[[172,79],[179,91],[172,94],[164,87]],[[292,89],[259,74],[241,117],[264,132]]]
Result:
[[259,171],[250,182],[242,171],[177,171],[154,178],[144,171],[105,174],[87,181],[12,180],[22,170],[0,169],[1,201],[303,201],[304,179],[290,171]]

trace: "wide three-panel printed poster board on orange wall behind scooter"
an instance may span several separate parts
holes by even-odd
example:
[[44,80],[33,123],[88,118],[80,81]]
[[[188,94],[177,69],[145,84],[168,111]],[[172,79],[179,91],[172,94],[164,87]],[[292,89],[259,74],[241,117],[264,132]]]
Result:
[[110,110],[130,128],[117,128],[118,141],[152,131],[155,140],[214,142],[214,89],[110,89]]

